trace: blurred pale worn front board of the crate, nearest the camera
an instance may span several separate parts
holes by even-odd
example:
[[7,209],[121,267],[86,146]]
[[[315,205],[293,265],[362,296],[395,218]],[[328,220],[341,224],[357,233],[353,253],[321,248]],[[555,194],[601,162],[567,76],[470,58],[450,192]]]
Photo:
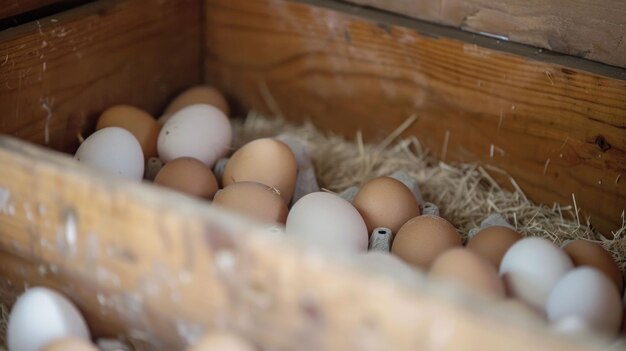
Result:
[[600,349],[496,301],[444,298],[427,281],[409,289],[200,200],[13,138],[0,137],[0,164],[8,294],[24,282],[59,288],[96,336],[123,329],[151,350],[180,350],[214,328],[262,350]]

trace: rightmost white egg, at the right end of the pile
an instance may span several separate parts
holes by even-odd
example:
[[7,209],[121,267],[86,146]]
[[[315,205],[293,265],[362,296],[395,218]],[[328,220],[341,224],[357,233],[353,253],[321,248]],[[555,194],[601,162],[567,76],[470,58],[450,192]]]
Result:
[[576,317],[594,330],[615,334],[622,323],[622,303],[615,284],[593,267],[580,267],[559,280],[548,298],[551,321]]

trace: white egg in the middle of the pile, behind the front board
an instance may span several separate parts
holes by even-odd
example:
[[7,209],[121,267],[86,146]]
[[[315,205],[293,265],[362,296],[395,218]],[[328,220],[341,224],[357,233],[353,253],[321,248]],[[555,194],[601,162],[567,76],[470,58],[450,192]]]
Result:
[[366,251],[368,245],[367,227],[359,212],[350,202],[327,192],[298,200],[287,216],[286,233],[332,252]]

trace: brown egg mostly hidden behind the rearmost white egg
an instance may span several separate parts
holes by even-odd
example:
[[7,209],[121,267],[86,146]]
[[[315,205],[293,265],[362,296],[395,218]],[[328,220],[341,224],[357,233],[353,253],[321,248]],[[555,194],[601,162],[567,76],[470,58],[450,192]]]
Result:
[[165,123],[169,116],[194,104],[207,104],[220,109],[226,116],[230,116],[230,109],[224,95],[217,89],[209,86],[196,86],[183,91],[165,109],[160,123]]

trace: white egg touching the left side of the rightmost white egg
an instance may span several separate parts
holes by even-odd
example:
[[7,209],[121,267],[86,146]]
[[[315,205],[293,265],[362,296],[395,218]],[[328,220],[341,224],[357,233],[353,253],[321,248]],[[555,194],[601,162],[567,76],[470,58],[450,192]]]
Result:
[[567,254],[550,241],[524,238],[504,254],[500,275],[514,296],[543,309],[556,283],[572,268]]

